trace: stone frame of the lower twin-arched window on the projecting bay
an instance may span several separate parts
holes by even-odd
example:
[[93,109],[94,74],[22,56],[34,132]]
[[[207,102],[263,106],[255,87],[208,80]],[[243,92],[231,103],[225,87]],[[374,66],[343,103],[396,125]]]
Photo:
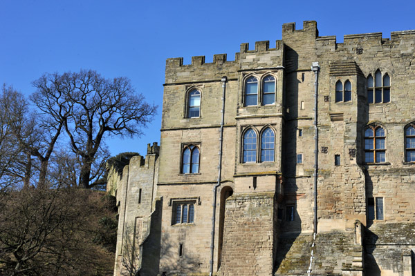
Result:
[[[266,130],[268,130],[268,128],[273,132],[274,134],[274,154],[273,154],[273,161],[262,161],[261,159],[261,153],[262,153],[262,135],[264,134],[264,132]],[[255,132],[256,135],[256,141],[255,141],[255,161],[244,161],[243,155],[245,152],[244,149],[244,140],[245,140],[245,135],[249,130],[253,130]],[[275,128],[269,124],[266,124],[265,126],[261,126],[261,129],[258,130],[255,126],[246,126],[246,128],[243,128],[243,131],[241,132],[241,159],[240,159],[240,163],[241,164],[260,164],[260,163],[273,163],[275,162],[275,148],[276,148],[276,139],[275,137],[277,136],[277,130],[275,130]]]

